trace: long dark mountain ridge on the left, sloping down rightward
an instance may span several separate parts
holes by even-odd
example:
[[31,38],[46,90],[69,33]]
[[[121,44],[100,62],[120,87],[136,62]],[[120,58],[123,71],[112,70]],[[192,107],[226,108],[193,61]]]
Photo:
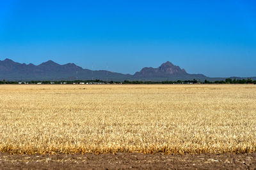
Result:
[[0,61],[0,80],[29,81],[29,80],[115,80],[122,81],[131,78],[129,74],[113,73],[111,71],[92,71],[76,66],[76,64],[58,64],[49,60],[38,66],[20,64],[10,59]]

